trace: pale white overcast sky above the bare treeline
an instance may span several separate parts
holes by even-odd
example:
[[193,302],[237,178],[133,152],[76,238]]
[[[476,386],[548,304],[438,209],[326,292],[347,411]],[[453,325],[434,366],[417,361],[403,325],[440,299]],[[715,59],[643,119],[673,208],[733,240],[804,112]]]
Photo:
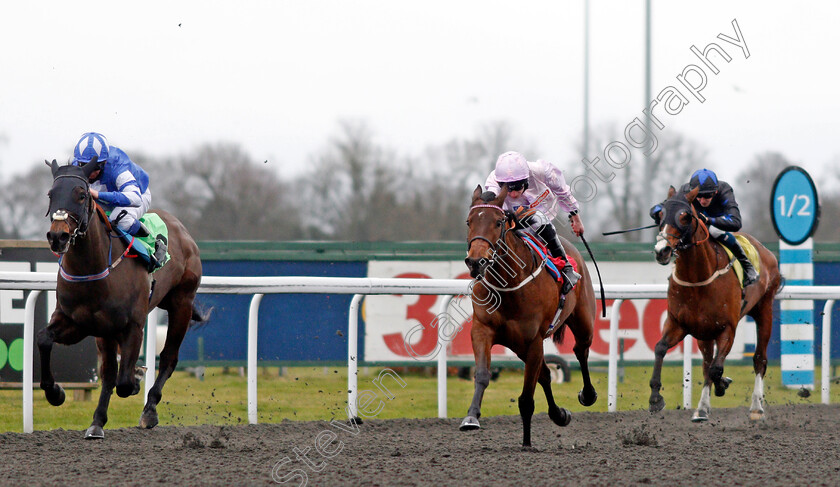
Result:
[[[79,135],[129,154],[240,143],[281,176],[366,121],[401,154],[468,137],[494,120],[566,171],[582,172],[583,0],[4,2],[0,7],[0,170],[67,160]],[[642,116],[644,2],[592,0],[593,126]],[[749,58],[717,38],[735,36]],[[840,162],[835,2],[653,2],[652,94],[684,87],[717,59],[664,131],[709,149],[733,178],[780,151],[818,176]],[[511,147],[511,149],[517,149]],[[592,154],[595,156],[598,154]],[[830,184],[828,178],[818,184]]]

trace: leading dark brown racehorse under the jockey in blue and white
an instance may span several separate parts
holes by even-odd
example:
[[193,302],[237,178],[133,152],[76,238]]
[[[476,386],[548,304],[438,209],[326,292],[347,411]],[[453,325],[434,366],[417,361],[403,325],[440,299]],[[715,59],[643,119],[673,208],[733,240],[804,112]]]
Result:
[[47,240],[61,260],[56,308],[49,325],[37,336],[41,389],[53,406],[64,402],[64,390],[55,383],[50,368],[53,344],[72,345],[96,337],[102,389],[85,438],[104,437],[102,427],[108,421],[108,403],[115,387],[120,397],[140,391],[136,363],[150,310],[167,310],[169,329],[157,380],[140,417],[144,428],[158,423],[161,391],[175,370],[178,349],[191,321],[205,319],[193,303],[201,280],[195,241],[175,217],[158,211],[168,227],[171,259],[150,275],[138,259],[123,258],[125,244],[111,235],[110,223],[90,195],[88,176],[97,166],[95,160],[83,167],[59,167],[52,161]]

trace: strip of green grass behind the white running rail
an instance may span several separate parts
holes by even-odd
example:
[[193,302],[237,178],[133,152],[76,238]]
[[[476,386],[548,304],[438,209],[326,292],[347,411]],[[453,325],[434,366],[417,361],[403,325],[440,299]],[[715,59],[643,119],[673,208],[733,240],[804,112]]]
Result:
[[[625,380],[618,384],[618,409],[646,409],[650,395],[651,368],[649,366],[627,367]],[[346,367],[294,367],[286,369],[280,376],[277,367],[264,368],[258,382],[259,422],[271,423],[282,420],[330,420],[346,418],[347,369]],[[376,393],[382,401],[376,418],[432,418],[437,417],[437,378],[431,373],[411,371],[401,367],[394,370],[406,382],[404,388],[390,379],[385,386],[393,393],[389,400],[374,384],[382,368],[363,367],[359,370],[359,390]],[[726,375],[734,382],[726,396],[712,396],[712,408],[749,406],[752,396],[754,375],[752,367],[729,366]],[[700,397],[702,372],[699,366],[693,370],[693,407]],[[820,402],[819,384],[808,398],[799,396],[798,391],[781,385],[778,367],[768,369],[765,381],[765,397],[769,406],[774,404],[817,404]],[[819,380],[819,368],[815,377]],[[557,403],[572,411],[607,410],[607,374],[596,372],[592,380],[598,391],[598,402],[590,408],[578,403],[577,393],[581,388],[579,371],[572,372],[569,383],[553,384]],[[666,366],[662,373],[662,394],[666,408],[675,409],[682,405],[682,366]],[[832,384],[831,402],[840,401],[840,386]],[[482,416],[516,415],[516,398],[522,390],[522,370],[505,369],[499,379],[490,384],[484,395]],[[448,413],[450,417],[463,416],[472,399],[472,381],[450,377],[448,380]],[[93,391],[92,401],[74,401],[68,391],[67,401],[60,407],[50,406],[40,389],[35,390],[34,427],[36,430],[63,428],[84,430],[90,425],[99,390]],[[122,399],[114,395],[108,411],[108,428],[136,426],[143,409],[141,395]],[[22,395],[19,390],[0,391],[0,432],[22,431]],[[535,394],[537,412],[546,410],[545,396],[537,386]],[[379,405],[371,403],[371,410]],[[247,424],[247,383],[237,369],[225,373],[221,368],[208,368],[204,380],[184,372],[176,372],[166,384],[163,401],[158,406],[160,424],[182,425],[236,425]]]

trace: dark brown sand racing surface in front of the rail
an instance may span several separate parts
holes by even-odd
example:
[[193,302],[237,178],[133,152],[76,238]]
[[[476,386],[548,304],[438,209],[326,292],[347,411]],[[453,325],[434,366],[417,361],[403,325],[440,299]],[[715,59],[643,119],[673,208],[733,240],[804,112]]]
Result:
[[[518,416],[158,426],[0,435],[2,485],[840,485],[840,405],[545,413],[523,450]],[[297,452],[297,453],[296,453]]]

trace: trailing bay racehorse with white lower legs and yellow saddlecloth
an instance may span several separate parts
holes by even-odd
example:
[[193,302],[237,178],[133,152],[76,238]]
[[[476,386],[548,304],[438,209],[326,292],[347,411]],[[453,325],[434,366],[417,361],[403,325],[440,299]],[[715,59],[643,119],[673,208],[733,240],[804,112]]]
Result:
[[[723,396],[731,379],[723,376],[723,362],[735,339],[735,328],[745,315],[755,320],[757,340],[753,369],[750,419],[764,418],[764,374],[767,371],[767,344],[773,326],[773,299],[782,282],[776,257],[753,237],[746,236],[758,251],[761,272],[758,282],[747,286],[742,295],[740,278],[731,268],[723,246],[709,238],[709,229],[700,221],[692,202],[699,188],[685,196],[672,186],[661,215],[656,260],[667,265],[676,254],[674,271],[668,284],[668,314],[662,339],[656,344],[656,361],[650,379],[650,410],[661,411],[665,400],[659,393],[662,360],[665,353],[686,335],[697,339],[703,354],[703,392],[692,421],[706,421],[711,411],[711,386]],[[717,354],[715,354],[717,346]]]

